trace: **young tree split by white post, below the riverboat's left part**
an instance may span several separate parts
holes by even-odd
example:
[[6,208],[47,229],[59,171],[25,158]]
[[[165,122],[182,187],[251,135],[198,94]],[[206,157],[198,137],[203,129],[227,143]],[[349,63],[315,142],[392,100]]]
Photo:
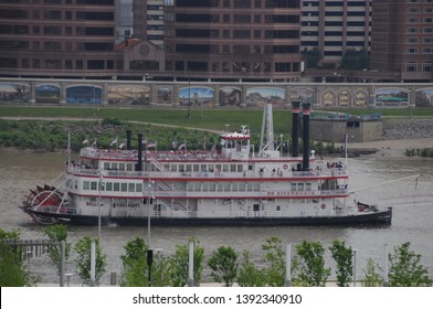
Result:
[[84,285],[88,286],[91,284],[91,247],[93,241],[96,243],[95,284],[98,286],[102,276],[106,271],[105,267],[107,265],[107,256],[103,254],[99,241],[92,239],[88,236],[80,239],[75,245],[75,251],[78,255],[75,263],[80,278],[83,280]]

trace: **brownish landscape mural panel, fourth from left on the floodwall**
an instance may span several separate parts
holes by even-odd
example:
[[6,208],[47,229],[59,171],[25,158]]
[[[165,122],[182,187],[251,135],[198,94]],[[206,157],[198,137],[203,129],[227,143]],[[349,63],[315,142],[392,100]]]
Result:
[[108,87],[108,105],[149,105],[150,88],[138,86]]

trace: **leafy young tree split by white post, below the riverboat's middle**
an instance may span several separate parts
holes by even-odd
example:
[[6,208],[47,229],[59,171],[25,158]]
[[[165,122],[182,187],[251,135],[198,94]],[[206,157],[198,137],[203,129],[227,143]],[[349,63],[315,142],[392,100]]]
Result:
[[178,245],[176,253],[170,258],[172,270],[172,285],[175,287],[184,287],[188,284],[188,262],[189,262],[189,243],[194,244],[194,285],[199,286],[203,271],[204,248],[200,246],[200,242],[191,237],[187,244]]

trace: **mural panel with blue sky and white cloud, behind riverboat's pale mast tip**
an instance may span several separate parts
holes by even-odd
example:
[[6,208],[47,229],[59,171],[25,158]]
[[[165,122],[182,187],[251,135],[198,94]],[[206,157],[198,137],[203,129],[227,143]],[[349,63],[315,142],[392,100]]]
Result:
[[283,108],[286,102],[286,90],[274,87],[254,87],[246,90],[246,106],[263,107],[272,104]]

